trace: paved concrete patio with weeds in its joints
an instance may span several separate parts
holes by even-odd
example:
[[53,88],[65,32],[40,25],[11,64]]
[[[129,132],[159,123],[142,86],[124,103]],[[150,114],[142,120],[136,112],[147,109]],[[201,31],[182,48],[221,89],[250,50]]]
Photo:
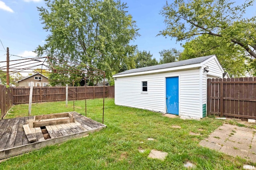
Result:
[[256,163],[256,129],[224,124],[199,144]]

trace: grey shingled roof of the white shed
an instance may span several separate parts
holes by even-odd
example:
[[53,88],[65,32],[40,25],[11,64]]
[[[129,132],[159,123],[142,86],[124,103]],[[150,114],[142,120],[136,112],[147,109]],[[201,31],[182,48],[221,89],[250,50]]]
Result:
[[148,66],[148,67],[142,67],[142,68],[135,68],[131,70],[126,70],[124,72],[120,72],[116,75],[121,75],[121,74],[129,74],[129,73],[135,73],[135,72],[144,72],[144,71],[150,71],[150,70],[158,70],[158,69],[163,69],[163,68],[172,68],[172,67],[178,67],[178,66],[185,66],[185,65],[190,65],[190,64],[198,64],[202,63],[203,61],[206,61],[207,59],[213,57],[215,55],[208,55],[204,57],[197,57],[194,59],[188,59],[188,60],[183,60],[183,61],[176,61],[173,63],[166,63],[166,64],[159,64],[155,66]]

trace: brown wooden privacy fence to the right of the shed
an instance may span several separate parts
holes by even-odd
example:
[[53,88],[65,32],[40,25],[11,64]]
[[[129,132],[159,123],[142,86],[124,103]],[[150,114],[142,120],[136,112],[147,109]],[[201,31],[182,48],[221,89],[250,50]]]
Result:
[[256,77],[208,79],[207,114],[256,119]]

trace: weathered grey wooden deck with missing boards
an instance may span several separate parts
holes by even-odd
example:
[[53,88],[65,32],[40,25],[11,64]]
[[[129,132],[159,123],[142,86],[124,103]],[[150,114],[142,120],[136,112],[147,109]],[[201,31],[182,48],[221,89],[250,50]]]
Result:
[[106,128],[106,125],[77,112],[73,111],[69,113],[74,115],[73,123],[45,126],[48,131],[48,139],[45,139],[46,137],[44,137],[45,135],[42,133],[42,127],[30,126],[30,131],[36,138],[36,141],[33,143],[29,142],[24,132],[23,125],[28,125],[33,122],[34,117],[17,117],[0,120],[0,159],[37,150],[48,145],[62,143],[70,139],[84,137],[88,133]]

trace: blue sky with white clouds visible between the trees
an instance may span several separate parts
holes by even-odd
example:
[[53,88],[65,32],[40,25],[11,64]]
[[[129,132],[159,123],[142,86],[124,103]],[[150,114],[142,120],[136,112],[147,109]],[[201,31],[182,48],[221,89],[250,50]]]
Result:
[[[166,0],[121,0],[128,6],[128,14],[139,28],[140,37],[131,42],[138,45],[140,51],[150,51],[154,58],[160,59],[163,49],[182,50],[180,42],[170,37],[156,36],[165,28],[164,17],[160,10]],[[168,0],[171,2],[172,0]],[[238,2],[243,2],[239,0]],[[9,47],[10,60],[15,56],[35,57],[33,53],[38,45],[43,45],[48,33],[42,29],[39,12],[36,7],[44,6],[44,0],[0,0],[0,61],[6,61],[6,47]],[[256,2],[246,16],[256,16]],[[184,43],[184,42],[183,42]],[[4,47],[3,47],[4,46]],[[20,59],[20,58],[18,58]],[[3,63],[0,63],[2,66]]]

